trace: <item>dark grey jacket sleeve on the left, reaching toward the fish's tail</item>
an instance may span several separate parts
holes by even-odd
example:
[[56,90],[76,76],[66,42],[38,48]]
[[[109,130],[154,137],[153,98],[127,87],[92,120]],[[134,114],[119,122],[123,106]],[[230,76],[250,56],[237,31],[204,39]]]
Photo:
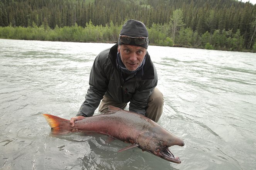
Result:
[[100,53],[94,60],[89,78],[90,87],[87,90],[85,101],[81,105],[77,116],[92,116],[107,90],[108,80],[101,63],[102,60],[104,61],[104,57],[107,58],[106,55]]

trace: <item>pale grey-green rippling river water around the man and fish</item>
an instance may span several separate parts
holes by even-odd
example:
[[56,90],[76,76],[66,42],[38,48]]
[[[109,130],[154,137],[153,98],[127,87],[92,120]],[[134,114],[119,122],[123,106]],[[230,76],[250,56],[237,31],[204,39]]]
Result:
[[181,164],[118,153],[128,144],[105,135],[51,135],[42,114],[74,117],[96,55],[112,45],[0,39],[0,169],[256,169],[256,53],[149,46],[158,124],[184,140],[170,147]]

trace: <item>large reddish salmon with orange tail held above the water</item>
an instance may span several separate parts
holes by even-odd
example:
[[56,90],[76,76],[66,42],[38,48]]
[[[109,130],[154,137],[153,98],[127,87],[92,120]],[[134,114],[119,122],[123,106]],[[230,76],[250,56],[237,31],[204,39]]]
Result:
[[184,142],[140,114],[109,106],[109,110],[105,114],[76,121],[75,127],[70,126],[70,120],[48,114],[43,115],[54,134],[69,133],[72,129],[102,133],[132,144],[119,152],[139,147],[170,162],[181,163],[180,158],[175,157],[168,148],[173,145],[182,147]]

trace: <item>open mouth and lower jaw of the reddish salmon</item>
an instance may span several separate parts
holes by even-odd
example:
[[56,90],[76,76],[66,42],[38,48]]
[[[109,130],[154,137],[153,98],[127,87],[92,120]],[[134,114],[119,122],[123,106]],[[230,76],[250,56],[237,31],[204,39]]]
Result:
[[158,148],[154,155],[174,163],[181,163],[179,157],[175,157],[168,147]]

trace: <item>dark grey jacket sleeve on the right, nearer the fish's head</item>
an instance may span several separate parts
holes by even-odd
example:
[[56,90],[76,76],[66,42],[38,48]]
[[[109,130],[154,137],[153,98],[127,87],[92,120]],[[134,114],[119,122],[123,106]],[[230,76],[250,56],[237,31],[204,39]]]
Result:
[[153,93],[157,82],[158,77],[156,73],[156,68],[154,67],[154,79],[144,81],[144,83],[141,83],[140,87],[136,89],[135,93],[130,99],[129,111],[140,113],[145,116],[147,100],[149,96]]

